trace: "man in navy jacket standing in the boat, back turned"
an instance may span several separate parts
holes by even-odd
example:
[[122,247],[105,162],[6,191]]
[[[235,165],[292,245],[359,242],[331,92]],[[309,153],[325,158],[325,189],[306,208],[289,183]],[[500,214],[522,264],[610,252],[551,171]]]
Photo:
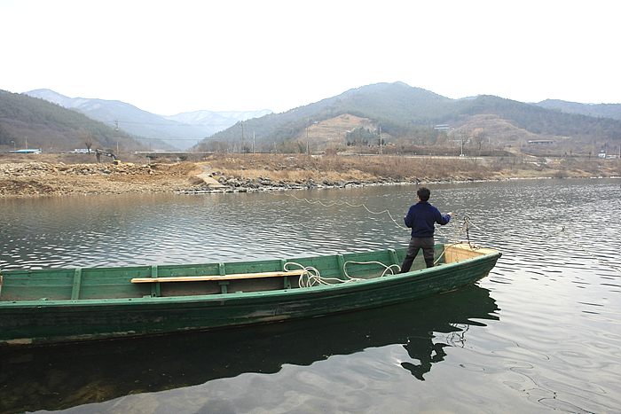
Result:
[[412,267],[412,262],[419,250],[422,249],[422,256],[428,268],[434,266],[434,230],[435,223],[440,225],[449,223],[452,213],[442,215],[440,210],[429,204],[429,191],[426,187],[421,187],[416,191],[419,202],[414,204],[405,216],[405,225],[412,229],[412,238],[407,247],[405,260],[401,265],[401,273],[405,273]]

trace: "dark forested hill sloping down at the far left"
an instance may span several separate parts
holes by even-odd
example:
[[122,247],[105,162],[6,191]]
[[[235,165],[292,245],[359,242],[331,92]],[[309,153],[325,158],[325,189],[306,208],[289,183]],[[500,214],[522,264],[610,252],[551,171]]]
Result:
[[0,145],[67,152],[76,148],[145,149],[135,138],[60,105],[0,90]]

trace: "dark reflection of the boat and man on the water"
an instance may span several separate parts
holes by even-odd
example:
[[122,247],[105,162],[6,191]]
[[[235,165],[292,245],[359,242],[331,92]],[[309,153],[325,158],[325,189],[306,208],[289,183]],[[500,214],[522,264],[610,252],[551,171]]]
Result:
[[[405,346],[418,379],[469,326],[498,319],[490,292],[468,285],[389,307],[296,322],[104,340],[0,353],[0,413],[62,410],[123,395],[190,387],[245,372],[275,373],[329,355]],[[451,339],[453,338],[453,340]],[[444,340],[444,341],[443,341]],[[440,355],[440,356],[436,356]]]

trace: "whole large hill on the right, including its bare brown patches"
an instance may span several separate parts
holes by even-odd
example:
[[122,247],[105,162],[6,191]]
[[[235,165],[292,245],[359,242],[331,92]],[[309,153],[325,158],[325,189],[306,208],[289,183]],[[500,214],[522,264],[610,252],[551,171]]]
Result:
[[[286,113],[248,120],[245,129],[253,134],[257,146],[264,146],[263,151],[287,141],[297,141],[301,152],[310,145],[315,146],[315,151],[330,145],[347,145],[347,134],[358,128],[375,134],[367,140],[370,145],[377,145],[380,132],[382,139],[392,144],[438,145],[439,136],[434,132],[437,125],[445,125],[445,132],[457,134],[444,140],[476,132],[480,137],[485,135],[488,145],[496,147],[547,140],[568,145],[569,153],[572,147],[588,152],[586,145],[590,145],[593,152],[595,146],[599,150],[602,145],[621,144],[621,117],[617,113],[621,112],[621,105],[565,104],[569,103],[527,104],[486,95],[451,99],[404,82],[376,83]],[[592,114],[580,114],[578,109],[588,109]],[[595,113],[597,117],[593,116]],[[350,124],[345,122],[348,117]],[[363,124],[366,127],[360,127]],[[330,129],[333,134],[328,133]],[[225,129],[200,145],[216,149],[216,144],[232,143],[238,149],[248,149],[248,143],[240,142],[240,134],[240,128]]]

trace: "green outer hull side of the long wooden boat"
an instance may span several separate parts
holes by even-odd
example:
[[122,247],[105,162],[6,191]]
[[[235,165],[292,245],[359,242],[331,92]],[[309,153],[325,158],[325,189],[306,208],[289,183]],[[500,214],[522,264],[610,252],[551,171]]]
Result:
[[[390,255],[402,260],[405,251]],[[491,251],[405,274],[272,291],[54,301],[0,297],[0,346],[185,332],[387,306],[473,283],[489,274],[499,256]],[[304,266],[318,261],[295,260]],[[10,272],[2,275],[5,283],[11,277]]]

